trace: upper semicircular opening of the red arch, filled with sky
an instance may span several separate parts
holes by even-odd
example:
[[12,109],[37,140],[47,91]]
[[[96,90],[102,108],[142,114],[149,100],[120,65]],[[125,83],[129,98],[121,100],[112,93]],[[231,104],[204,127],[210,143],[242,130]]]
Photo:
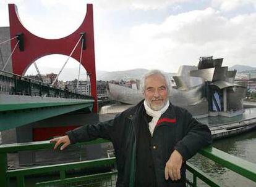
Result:
[[15,2],[20,22],[32,34],[46,39],[59,39],[74,33],[82,24],[87,4],[77,1]]

